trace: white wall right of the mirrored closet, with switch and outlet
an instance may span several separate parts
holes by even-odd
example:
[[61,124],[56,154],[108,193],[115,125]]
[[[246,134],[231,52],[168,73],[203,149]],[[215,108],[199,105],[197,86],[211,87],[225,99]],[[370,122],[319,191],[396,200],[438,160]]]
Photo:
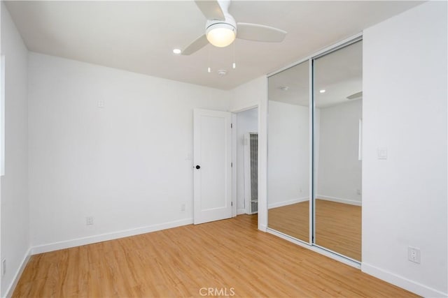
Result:
[[364,32],[362,269],[426,297],[448,293],[447,50],[446,1]]

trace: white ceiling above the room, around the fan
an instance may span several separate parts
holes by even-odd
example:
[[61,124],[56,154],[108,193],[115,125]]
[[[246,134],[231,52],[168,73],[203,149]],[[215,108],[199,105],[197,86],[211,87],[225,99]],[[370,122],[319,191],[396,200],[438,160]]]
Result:
[[[282,43],[236,40],[236,69],[232,45],[172,53],[204,33],[194,1],[6,1],[6,7],[33,52],[232,89],[420,3],[234,0],[230,13],[237,22],[288,31]],[[219,69],[228,74],[218,75]]]

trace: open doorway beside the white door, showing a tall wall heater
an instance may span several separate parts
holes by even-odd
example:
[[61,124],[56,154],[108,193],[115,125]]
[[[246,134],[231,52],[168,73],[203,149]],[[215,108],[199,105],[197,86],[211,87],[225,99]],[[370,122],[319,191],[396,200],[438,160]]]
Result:
[[[237,214],[258,212],[258,107],[236,114]],[[256,217],[256,215],[253,215]]]

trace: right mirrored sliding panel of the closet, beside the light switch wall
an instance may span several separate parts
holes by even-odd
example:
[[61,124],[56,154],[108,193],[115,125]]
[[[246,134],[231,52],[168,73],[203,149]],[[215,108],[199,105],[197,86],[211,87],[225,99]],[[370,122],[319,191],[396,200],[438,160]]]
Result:
[[362,41],[314,60],[314,243],[361,260]]

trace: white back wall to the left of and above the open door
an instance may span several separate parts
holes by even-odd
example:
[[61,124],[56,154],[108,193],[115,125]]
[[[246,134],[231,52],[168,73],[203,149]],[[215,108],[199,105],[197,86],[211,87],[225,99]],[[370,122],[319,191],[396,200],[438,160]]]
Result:
[[230,91],[32,52],[28,70],[34,253],[193,221],[193,108]]

